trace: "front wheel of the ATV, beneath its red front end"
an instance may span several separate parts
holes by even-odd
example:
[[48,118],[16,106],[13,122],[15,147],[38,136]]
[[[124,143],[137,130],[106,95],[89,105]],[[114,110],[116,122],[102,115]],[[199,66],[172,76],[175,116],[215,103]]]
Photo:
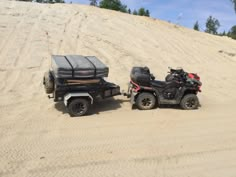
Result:
[[184,110],[193,110],[199,107],[198,97],[195,94],[187,94],[180,102],[180,106]]

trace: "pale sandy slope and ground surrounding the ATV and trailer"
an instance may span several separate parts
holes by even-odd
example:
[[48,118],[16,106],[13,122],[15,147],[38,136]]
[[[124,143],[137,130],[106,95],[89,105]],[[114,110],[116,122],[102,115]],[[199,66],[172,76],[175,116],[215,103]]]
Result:
[[[131,110],[126,98],[70,118],[48,100],[51,54],[96,55],[126,89],[132,66],[158,79],[198,72],[197,111]],[[0,176],[236,175],[236,41],[80,5],[0,0]]]

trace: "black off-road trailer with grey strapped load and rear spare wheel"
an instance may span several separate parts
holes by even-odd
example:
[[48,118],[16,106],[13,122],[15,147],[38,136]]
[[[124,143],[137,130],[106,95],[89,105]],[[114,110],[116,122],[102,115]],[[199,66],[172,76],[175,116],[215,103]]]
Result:
[[64,102],[71,116],[83,116],[95,101],[120,95],[118,85],[104,80],[108,71],[96,57],[54,55],[43,84],[49,98]]

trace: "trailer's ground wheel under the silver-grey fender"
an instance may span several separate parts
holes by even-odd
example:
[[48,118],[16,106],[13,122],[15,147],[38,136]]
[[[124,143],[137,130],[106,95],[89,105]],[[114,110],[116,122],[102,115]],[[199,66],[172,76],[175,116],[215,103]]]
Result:
[[89,110],[90,103],[87,99],[77,98],[69,102],[68,111],[73,117],[85,115]]

